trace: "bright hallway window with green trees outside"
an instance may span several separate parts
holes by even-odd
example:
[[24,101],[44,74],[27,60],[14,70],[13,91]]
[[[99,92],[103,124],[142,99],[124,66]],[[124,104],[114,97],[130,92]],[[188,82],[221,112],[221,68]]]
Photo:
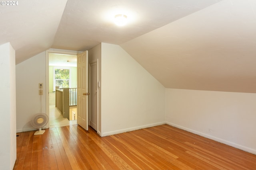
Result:
[[68,88],[70,87],[71,80],[70,80],[70,74],[71,70],[70,68],[60,68],[60,67],[55,67],[54,68],[54,91],[55,86],[59,86],[59,88]]

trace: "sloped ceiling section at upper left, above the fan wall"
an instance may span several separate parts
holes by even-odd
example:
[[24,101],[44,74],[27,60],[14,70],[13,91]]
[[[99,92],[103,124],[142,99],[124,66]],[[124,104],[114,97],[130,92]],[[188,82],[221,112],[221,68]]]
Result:
[[16,64],[52,46],[67,0],[17,2],[0,6],[0,45],[11,43]]

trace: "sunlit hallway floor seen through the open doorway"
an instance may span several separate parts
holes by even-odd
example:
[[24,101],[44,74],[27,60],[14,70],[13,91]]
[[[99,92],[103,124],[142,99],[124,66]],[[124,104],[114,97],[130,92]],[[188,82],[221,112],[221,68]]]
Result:
[[77,124],[76,120],[68,121],[67,118],[62,117],[62,114],[55,107],[55,105],[50,105],[49,108],[50,108],[50,117],[49,117],[50,127],[61,127],[61,126]]

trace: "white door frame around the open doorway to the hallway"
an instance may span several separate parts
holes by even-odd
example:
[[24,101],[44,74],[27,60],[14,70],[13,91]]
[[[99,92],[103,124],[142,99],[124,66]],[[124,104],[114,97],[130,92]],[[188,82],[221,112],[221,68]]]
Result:
[[50,107],[49,107],[49,53],[58,53],[64,55],[77,55],[81,53],[81,51],[67,51],[67,50],[59,50],[59,49],[48,49],[45,54],[45,63],[46,63],[46,115],[49,117],[49,121],[46,124],[46,128],[50,127]]

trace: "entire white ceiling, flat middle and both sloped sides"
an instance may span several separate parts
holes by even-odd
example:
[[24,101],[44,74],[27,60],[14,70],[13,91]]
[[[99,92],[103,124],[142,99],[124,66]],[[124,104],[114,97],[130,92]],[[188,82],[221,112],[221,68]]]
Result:
[[[128,24],[111,18],[124,13]],[[49,48],[120,45],[166,88],[256,93],[254,0],[22,0],[0,6],[16,64]]]

